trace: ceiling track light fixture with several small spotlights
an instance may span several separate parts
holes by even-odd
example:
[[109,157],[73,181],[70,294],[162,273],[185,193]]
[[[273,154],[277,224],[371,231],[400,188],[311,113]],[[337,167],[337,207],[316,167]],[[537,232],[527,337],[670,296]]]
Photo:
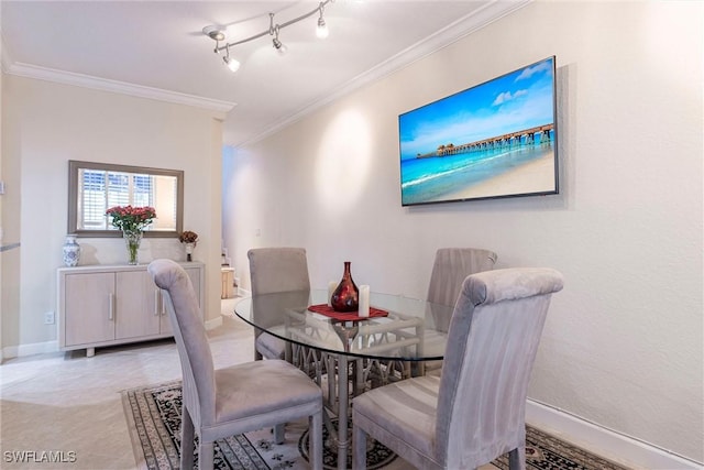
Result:
[[316,35],[320,39],[324,39],[328,37],[329,31],[328,31],[328,24],[326,23],[326,20],[323,18],[323,10],[324,7],[328,3],[333,2],[334,0],[324,0],[321,1],[318,7],[312,10],[309,11],[306,14],[301,14],[298,18],[294,18],[293,20],[283,22],[283,23],[274,23],[274,14],[275,13],[270,13],[270,24],[268,24],[268,30],[263,31],[258,34],[254,34],[253,36],[250,37],[245,37],[243,40],[240,41],[233,41],[233,42],[228,42],[223,45],[220,45],[220,43],[222,41],[226,40],[226,35],[224,32],[221,28],[216,26],[216,25],[209,25],[202,29],[204,34],[206,34],[208,37],[210,37],[211,40],[213,40],[216,42],[216,47],[215,47],[215,53],[216,54],[220,54],[220,53],[224,53],[224,56],[222,57],[222,62],[230,68],[230,70],[232,72],[237,72],[240,68],[240,63],[238,62],[238,59],[235,59],[234,57],[230,56],[230,47],[232,46],[237,46],[240,44],[244,44],[244,43],[249,43],[250,41],[254,41],[256,39],[266,36],[267,34],[270,36],[272,36],[272,44],[274,46],[274,48],[276,50],[276,52],[278,52],[279,55],[283,55],[286,53],[286,51],[288,50],[288,47],[286,47],[286,44],[282,43],[282,41],[279,40],[278,35],[280,30],[283,30],[286,26],[290,26],[292,24],[298,23],[299,21],[302,21],[307,18],[312,17],[316,13],[319,13],[320,15],[318,17],[318,26],[316,29]]

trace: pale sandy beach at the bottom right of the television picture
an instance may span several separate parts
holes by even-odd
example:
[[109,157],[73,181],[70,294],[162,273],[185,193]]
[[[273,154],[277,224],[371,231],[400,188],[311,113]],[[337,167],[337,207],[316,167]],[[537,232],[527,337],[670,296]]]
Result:
[[540,193],[554,187],[553,153],[525,163],[491,179],[443,195],[443,199],[471,199],[510,194]]

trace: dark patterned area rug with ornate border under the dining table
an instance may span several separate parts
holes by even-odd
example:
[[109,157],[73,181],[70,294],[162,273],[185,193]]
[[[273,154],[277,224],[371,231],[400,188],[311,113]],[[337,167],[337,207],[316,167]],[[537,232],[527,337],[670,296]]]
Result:
[[[180,455],[180,382],[129,390],[122,393],[122,402],[131,431],[134,455],[140,469],[178,469]],[[627,470],[593,453],[571,446],[538,429],[527,427],[526,464],[539,470]],[[307,423],[286,426],[286,441],[276,445],[271,429],[232,436],[216,442],[215,468],[219,470],[279,470],[308,469]],[[384,446],[372,448],[370,469],[411,468]],[[334,469],[337,456],[326,451],[326,469]],[[196,463],[198,455],[196,450]],[[503,456],[492,464],[508,469],[508,457]],[[196,464],[197,468],[197,464]]]

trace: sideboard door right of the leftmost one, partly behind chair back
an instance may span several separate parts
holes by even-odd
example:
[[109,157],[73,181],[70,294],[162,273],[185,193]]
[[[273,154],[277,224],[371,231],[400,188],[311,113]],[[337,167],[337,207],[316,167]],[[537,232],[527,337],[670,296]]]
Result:
[[116,338],[158,335],[158,293],[150,274],[146,271],[123,271],[116,276]]

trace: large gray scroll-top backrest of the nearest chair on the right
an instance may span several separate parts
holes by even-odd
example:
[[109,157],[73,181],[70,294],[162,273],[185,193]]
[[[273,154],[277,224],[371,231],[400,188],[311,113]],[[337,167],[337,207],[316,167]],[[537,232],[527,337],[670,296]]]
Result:
[[515,267],[466,277],[448,334],[436,423],[447,468],[488,462],[525,444],[530,371],[551,294],[551,269]]

